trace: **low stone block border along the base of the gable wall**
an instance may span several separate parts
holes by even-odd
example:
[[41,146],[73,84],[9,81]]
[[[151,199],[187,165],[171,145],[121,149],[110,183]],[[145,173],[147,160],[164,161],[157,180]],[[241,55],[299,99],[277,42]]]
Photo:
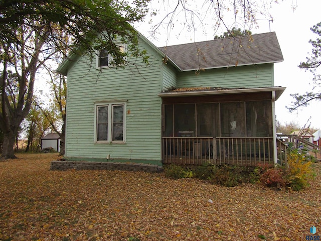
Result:
[[162,172],[163,167],[153,164],[128,163],[128,162],[80,162],[80,161],[52,161],[50,170],[121,170]]

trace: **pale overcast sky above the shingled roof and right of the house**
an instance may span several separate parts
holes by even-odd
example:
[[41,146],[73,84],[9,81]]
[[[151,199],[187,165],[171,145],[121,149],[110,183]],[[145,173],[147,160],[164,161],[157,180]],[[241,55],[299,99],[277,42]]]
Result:
[[[170,0],[166,0],[165,3],[162,1],[154,2],[155,4],[161,5],[160,12],[154,19],[162,19],[164,13],[169,12],[169,8],[166,6],[167,1]],[[269,31],[276,32],[283,53],[284,61],[274,64],[274,85],[286,87],[286,90],[276,101],[276,119],[281,122],[281,124],[293,121],[301,127],[311,123],[311,127],[321,128],[320,102],[311,102],[310,106],[299,108],[294,113],[290,113],[285,107],[286,105],[290,105],[293,100],[290,96],[291,93],[304,93],[305,91],[311,90],[309,82],[312,80],[312,75],[309,72],[300,70],[297,66],[300,61],[304,61],[307,56],[310,56],[308,53],[311,52],[311,44],[309,44],[308,41],[316,38],[316,35],[310,31],[310,27],[321,22],[321,1],[285,0],[279,2],[280,4],[274,5],[271,11],[273,22],[269,22],[267,18],[262,18],[262,20],[258,22],[258,28],[251,29],[252,34]],[[292,6],[296,6],[294,11],[292,10]],[[156,22],[157,20],[154,21],[154,23]],[[175,28],[171,29],[170,33],[166,28],[159,28],[158,33],[155,35],[156,39],[149,35],[151,25],[145,23],[135,27],[157,47],[188,43],[194,40],[211,40],[214,37],[214,33],[209,31],[209,29],[211,29],[210,24],[206,26],[207,29],[205,29],[205,31],[199,27],[199,31],[196,34],[194,31],[189,32],[182,30],[184,21],[182,23],[182,21],[176,20],[175,24]],[[231,20],[229,27],[231,26],[233,26],[233,20]],[[218,31],[216,34],[220,35],[225,31],[226,29],[222,28],[221,32]]]

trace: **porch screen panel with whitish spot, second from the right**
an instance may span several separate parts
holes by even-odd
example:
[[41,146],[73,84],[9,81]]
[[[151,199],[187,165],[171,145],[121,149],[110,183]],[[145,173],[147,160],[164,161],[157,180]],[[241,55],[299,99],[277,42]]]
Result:
[[222,137],[245,137],[244,102],[221,103]]

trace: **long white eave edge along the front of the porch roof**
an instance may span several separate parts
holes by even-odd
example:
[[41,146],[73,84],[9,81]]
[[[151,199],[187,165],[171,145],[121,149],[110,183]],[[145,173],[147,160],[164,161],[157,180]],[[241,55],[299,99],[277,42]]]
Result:
[[205,91],[182,91],[182,92],[161,92],[159,97],[182,97],[182,96],[200,96],[215,94],[239,94],[275,91],[275,100],[277,100],[284,92],[286,87],[261,87],[261,88],[242,88],[242,89],[225,89],[225,90],[205,90]]

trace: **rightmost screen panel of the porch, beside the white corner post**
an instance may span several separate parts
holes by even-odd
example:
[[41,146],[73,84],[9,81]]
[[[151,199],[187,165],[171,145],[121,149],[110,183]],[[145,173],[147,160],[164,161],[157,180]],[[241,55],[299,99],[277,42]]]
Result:
[[246,129],[248,137],[271,137],[273,135],[270,100],[246,102]]

